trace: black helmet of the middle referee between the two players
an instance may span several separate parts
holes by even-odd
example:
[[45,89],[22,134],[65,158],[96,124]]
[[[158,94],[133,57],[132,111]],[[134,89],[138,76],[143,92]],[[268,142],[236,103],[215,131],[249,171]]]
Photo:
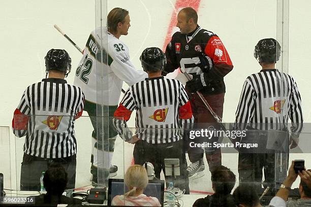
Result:
[[166,57],[163,51],[157,47],[146,48],[140,56],[141,66],[144,72],[155,73],[163,71]]

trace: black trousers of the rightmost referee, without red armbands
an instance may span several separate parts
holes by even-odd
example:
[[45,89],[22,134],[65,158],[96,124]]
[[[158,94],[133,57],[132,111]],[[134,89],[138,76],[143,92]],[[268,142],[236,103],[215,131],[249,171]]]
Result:
[[[242,143],[257,143],[258,148],[253,149],[239,149],[238,158],[238,173],[239,182],[252,183],[259,192],[261,192],[261,185],[264,188],[270,187],[270,192],[276,193],[276,189],[281,186],[282,182],[287,177],[288,169],[288,132],[267,130],[248,130],[247,136],[242,139]],[[267,142],[268,136],[272,137],[275,134],[275,142]],[[275,144],[275,145],[272,145]],[[274,147],[273,147],[274,146]],[[279,146],[285,146],[282,151]],[[273,150],[273,148],[275,148]],[[263,172],[265,180],[263,180]]]

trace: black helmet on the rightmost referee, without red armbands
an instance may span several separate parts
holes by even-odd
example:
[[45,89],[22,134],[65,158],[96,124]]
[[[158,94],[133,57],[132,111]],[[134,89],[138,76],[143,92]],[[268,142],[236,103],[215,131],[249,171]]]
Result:
[[258,62],[275,63],[281,56],[281,45],[273,38],[260,40],[255,46],[254,57]]

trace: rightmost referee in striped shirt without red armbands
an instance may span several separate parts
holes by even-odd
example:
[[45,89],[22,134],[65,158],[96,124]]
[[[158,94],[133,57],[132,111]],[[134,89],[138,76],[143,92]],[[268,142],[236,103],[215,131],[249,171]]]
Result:
[[[280,55],[281,46],[276,40],[270,38],[258,42],[254,56],[262,70],[246,78],[236,111],[237,128],[251,129],[241,142],[257,142],[263,147],[259,151],[257,149],[256,153],[246,153],[240,149],[238,158],[240,182],[255,182],[258,188],[261,188],[262,169],[265,173],[264,187],[273,187],[275,182],[281,184],[286,178],[288,148],[289,145],[291,149],[297,146],[303,124],[301,98],[295,80],[275,69]],[[288,118],[292,122],[290,139]],[[277,149],[269,144],[268,136],[272,134],[283,140],[285,149]],[[276,172],[281,169],[275,166],[283,167],[284,175]]]

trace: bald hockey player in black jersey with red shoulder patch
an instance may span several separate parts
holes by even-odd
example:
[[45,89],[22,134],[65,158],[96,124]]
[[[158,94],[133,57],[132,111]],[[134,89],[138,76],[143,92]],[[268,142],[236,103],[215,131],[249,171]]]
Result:
[[[203,94],[213,111],[222,118],[226,92],[224,77],[232,70],[233,65],[220,38],[201,28],[197,21],[198,15],[193,8],[184,8],[178,13],[176,26],[180,31],[174,33],[166,47],[167,65],[163,73],[165,75],[182,67],[186,73],[193,75],[185,89],[195,118],[194,128],[208,128],[211,125],[219,128],[196,91]],[[217,142],[217,137],[210,141],[202,140],[205,141]],[[204,151],[189,147],[188,155],[192,162],[188,167],[189,176],[197,177],[198,172],[204,170]],[[205,155],[210,171],[222,164],[220,148],[205,149]]]

